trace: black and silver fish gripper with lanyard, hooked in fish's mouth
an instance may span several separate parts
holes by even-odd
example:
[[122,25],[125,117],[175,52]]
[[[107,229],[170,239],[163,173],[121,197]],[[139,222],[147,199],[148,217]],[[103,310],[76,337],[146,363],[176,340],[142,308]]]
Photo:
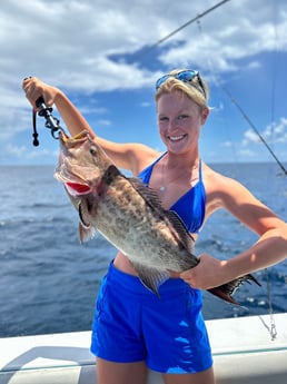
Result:
[[[44,127],[51,129],[51,135],[55,139],[59,139],[59,131],[65,134],[63,128],[60,126],[60,120],[52,116],[52,107],[47,107],[44,104],[43,98],[40,96],[39,99],[36,100],[36,107],[39,108],[38,115],[46,119]],[[33,109],[33,146],[39,146],[38,140],[38,132],[37,132],[37,111]],[[66,135],[66,134],[65,134]]]

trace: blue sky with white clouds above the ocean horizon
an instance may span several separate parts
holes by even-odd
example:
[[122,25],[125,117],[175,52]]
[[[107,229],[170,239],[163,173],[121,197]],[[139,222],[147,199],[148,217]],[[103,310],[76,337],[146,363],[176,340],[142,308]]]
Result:
[[198,69],[209,82],[212,109],[200,139],[206,163],[274,161],[224,89],[286,163],[286,0],[229,0],[149,50],[219,2],[1,3],[0,165],[57,163],[58,141],[41,117],[40,146],[32,146],[31,108],[21,89],[27,76],[63,89],[99,136],[164,150],[154,85],[174,68]]

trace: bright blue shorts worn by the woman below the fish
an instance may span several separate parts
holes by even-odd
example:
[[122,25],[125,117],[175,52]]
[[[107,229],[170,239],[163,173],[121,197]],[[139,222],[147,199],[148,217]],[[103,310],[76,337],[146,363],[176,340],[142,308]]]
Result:
[[117,363],[146,361],[161,373],[210,368],[201,292],[172,278],[159,287],[159,295],[111,263],[98,294],[91,352]]

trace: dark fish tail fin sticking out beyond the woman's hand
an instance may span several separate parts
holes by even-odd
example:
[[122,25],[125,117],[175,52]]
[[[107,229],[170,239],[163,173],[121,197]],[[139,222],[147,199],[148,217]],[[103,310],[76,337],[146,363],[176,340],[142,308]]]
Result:
[[235,305],[239,305],[239,303],[237,303],[232,295],[235,294],[235,292],[244,284],[244,283],[249,283],[254,282],[257,285],[261,286],[261,284],[253,276],[253,275],[244,275],[241,277],[238,277],[229,283],[222,284],[218,287],[215,288],[210,288],[208,289],[208,292],[210,292],[212,295],[228,302]]

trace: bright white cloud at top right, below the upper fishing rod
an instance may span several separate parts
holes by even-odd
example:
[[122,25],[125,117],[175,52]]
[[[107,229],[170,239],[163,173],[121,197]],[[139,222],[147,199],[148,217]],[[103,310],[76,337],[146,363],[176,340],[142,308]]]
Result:
[[182,31],[182,45],[165,52],[161,60],[166,65],[185,66],[191,58],[202,69],[234,71],[238,69],[235,60],[275,49],[286,51],[286,9],[284,1],[276,6],[258,0],[227,2],[215,10],[214,17],[200,19],[199,28],[195,24]]

